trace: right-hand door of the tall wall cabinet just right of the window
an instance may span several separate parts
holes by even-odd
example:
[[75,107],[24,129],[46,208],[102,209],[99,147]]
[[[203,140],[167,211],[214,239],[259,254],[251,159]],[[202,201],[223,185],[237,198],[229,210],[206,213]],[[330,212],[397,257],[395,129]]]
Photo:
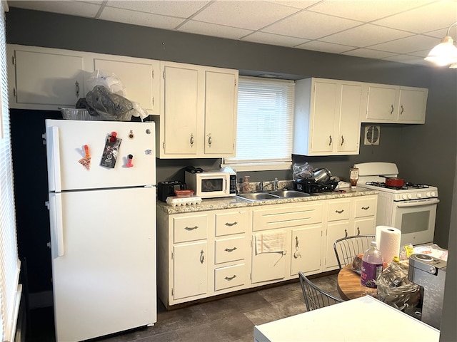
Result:
[[357,155],[360,141],[360,121],[362,86],[341,84],[339,120],[336,151],[338,154]]

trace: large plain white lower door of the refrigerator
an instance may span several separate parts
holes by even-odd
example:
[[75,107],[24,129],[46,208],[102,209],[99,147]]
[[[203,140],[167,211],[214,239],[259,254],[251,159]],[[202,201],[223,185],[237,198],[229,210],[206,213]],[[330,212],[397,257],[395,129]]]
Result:
[[51,224],[57,341],[155,323],[156,187],[52,196],[51,222],[61,217]]

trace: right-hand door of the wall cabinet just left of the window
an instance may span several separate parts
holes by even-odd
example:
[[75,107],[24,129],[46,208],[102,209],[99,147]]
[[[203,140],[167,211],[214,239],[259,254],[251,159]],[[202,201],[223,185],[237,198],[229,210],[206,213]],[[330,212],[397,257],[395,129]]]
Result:
[[204,153],[210,157],[235,155],[238,71],[205,71]]

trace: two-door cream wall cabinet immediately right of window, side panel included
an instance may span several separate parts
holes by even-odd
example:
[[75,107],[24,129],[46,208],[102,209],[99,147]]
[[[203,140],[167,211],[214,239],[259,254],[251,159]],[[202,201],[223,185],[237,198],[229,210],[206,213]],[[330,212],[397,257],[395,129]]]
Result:
[[361,83],[323,78],[297,81],[293,154],[358,154],[361,98]]

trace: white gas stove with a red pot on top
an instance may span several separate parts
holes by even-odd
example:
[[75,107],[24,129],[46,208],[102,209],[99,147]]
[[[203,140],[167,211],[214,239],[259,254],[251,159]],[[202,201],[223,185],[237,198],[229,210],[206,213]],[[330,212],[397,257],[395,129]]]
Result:
[[437,187],[405,182],[391,162],[365,162],[354,167],[359,169],[357,186],[378,191],[376,226],[400,229],[401,246],[433,242],[440,202]]

